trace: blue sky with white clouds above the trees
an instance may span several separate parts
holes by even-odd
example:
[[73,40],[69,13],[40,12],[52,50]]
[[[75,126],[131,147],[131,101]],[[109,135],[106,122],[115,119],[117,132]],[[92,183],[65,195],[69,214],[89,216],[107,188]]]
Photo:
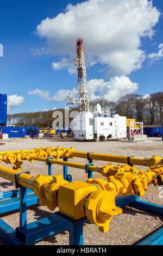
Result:
[[[66,106],[68,89],[76,94],[77,75],[73,68],[73,57],[75,40],[79,37],[85,39],[87,68],[91,65],[87,71],[87,81],[92,80],[88,82],[92,93],[90,99],[105,96],[106,99],[115,100],[116,96],[118,99],[118,96],[128,92],[146,95],[162,91],[163,57],[156,54],[160,50],[158,46],[163,44],[163,2],[153,0],[150,8],[145,3],[147,0],[142,0],[144,4],[141,7],[135,0],[135,9],[129,5],[128,11],[122,10],[122,13],[127,11],[126,16],[130,8],[133,10],[133,16],[128,18],[133,22],[133,30],[125,25],[126,17],[120,17],[123,8],[120,0],[110,1],[117,2],[115,6],[108,1],[100,2],[1,1],[0,44],[3,44],[3,57],[0,57],[0,92],[12,95],[9,113]],[[121,2],[129,3],[128,0]],[[72,5],[66,9],[67,4]],[[115,20],[111,17],[111,8],[120,12],[114,15]],[[133,21],[134,11],[139,13],[137,19],[141,20],[140,23]],[[95,14],[96,17],[93,16]],[[95,19],[99,19],[99,26]],[[109,19],[113,20],[112,24]],[[122,27],[119,30],[115,26],[120,24]],[[147,29],[153,31],[151,38]],[[62,54],[64,52],[67,54]],[[149,57],[152,53],[155,55]]]

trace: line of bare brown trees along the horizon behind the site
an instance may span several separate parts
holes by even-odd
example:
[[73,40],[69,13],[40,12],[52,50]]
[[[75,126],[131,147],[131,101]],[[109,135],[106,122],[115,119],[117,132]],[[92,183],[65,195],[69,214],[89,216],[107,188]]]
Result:
[[[163,123],[163,92],[153,93],[142,96],[139,94],[127,94],[117,101],[108,101],[99,99],[90,102],[90,111],[96,111],[96,105],[99,103],[103,111],[110,111],[111,114],[119,114],[121,116],[135,119],[148,125],[161,125]],[[65,120],[64,108],[57,109],[63,114]],[[79,111],[79,108],[72,107],[71,111]],[[15,126],[52,126],[54,118],[52,114],[54,110],[45,112],[30,112],[8,114],[8,125]],[[71,120],[71,119],[70,119]]]

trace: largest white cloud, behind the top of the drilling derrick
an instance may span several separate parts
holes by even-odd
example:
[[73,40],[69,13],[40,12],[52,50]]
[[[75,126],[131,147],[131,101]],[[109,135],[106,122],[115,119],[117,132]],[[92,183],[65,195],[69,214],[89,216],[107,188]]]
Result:
[[[47,39],[47,51],[54,54],[62,54],[82,37],[85,49],[91,51],[96,62],[105,65],[110,76],[129,75],[141,68],[146,57],[145,51],[140,50],[141,38],[152,38],[159,16],[152,1],[89,0],[68,4],[65,13],[42,20],[36,33]],[[73,54],[70,53],[71,59]],[[53,68],[67,65],[62,59],[53,63]]]

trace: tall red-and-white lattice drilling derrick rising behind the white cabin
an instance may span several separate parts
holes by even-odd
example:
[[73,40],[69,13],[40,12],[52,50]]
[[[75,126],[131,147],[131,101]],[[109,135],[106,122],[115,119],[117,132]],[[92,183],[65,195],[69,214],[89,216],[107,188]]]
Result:
[[67,96],[67,105],[78,104],[80,113],[89,111],[89,92],[86,82],[86,68],[84,62],[83,39],[76,40],[77,43],[77,58],[74,59],[75,65],[78,66],[78,94],[79,98],[74,98],[71,93]]

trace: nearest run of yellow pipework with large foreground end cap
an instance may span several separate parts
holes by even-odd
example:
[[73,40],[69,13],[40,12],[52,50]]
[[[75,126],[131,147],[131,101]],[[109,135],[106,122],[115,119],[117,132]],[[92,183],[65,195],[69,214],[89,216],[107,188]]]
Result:
[[[117,172],[116,168],[114,173]],[[125,169],[125,168],[124,168]],[[50,210],[57,206],[61,214],[73,220],[87,217],[89,221],[99,226],[99,230],[109,230],[109,222],[114,215],[122,213],[122,209],[115,205],[115,197],[136,194],[143,196],[147,185],[163,184],[163,166],[143,172],[131,168],[122,170],[115,175],[109,175],[108,182],[104,179],[88,179],[86,182],[68,182],[61,174],[37,175],[36,177],[22,173],[18,176],[18,184],[32,189],[39,197],[39,204],[46,205]],[[0,167],[0,176],[15,181],[16,170]],[[158,173],[161,173],[157,175]]]

